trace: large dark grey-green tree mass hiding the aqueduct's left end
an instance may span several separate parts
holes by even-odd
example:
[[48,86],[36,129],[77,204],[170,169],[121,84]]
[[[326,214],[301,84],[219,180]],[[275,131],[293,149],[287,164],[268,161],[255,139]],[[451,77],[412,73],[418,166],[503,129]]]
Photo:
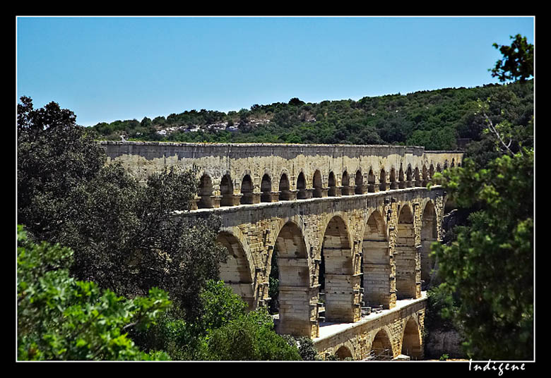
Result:
[[170,291],[194,317],[208,279],[227,251],[215,243],[220,220],[174,217],[189,209],[194,173],[167,169],[138,182],[55,103],[18,114],[18,221],[36,240],[75,252],[71,274],[131,298]]

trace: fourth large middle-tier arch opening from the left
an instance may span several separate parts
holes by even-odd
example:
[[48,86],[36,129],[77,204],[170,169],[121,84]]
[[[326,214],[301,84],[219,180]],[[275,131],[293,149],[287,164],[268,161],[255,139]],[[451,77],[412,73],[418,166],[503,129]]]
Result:
[[370,307],[390,308],[391,261],[386,224],[378,210],[367,219],[362,242],[364,301]]

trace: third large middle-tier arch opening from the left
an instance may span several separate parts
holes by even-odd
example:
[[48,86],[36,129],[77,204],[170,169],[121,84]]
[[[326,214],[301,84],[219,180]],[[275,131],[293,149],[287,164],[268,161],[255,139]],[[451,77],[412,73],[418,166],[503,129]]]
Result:
[[338,215],[331,217],[322,238],[320,268],[328,322],[354,322],[359,315],[354,306],[354,290],[360,289],[360,276],[354,274],[350,240],[345,220]]

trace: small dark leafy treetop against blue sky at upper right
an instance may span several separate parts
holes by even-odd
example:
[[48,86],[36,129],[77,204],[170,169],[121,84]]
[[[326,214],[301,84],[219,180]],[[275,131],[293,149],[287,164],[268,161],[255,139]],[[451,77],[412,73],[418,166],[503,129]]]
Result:
[[534,46],[520,34],[515,37],[511,35],[510,38],[514,39],[511,46],[492,44],[502,53],[503,59],[488,71],[492,72],[492,78],[497,77],[501,82],[517,79],[524,82],[534,74]]

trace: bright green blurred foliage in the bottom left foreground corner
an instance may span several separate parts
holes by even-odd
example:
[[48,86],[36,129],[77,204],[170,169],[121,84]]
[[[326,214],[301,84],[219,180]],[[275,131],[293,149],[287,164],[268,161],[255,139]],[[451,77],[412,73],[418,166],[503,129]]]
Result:
[[144,353],[127,329],[146,329],[171,305],[165,291],[126,299],[69,275],[73,251],[32,243],[18,226],[19,360],[167,360]]

